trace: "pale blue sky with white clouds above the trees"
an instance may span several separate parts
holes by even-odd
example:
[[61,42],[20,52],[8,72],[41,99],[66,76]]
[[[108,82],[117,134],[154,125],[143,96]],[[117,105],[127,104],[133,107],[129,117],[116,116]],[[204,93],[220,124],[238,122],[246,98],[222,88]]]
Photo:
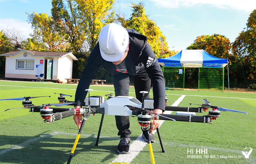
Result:
[[[142,0],[115,1],[115,10],[131,16],[131,3]],[[220,34],[234,42],[246,27],[256,0],[143,0],[149,19],[165,35],[170,50],[181,51],[197,36]],[[24,38],[31,38],[28,15],[36,12],[51,15],[52,0],[0,0],[0,29],[15,28]]]

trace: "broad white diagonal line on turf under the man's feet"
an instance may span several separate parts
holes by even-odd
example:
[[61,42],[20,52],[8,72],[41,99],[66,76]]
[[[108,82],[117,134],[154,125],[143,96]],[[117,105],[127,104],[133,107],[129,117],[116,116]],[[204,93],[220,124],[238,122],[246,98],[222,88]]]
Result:
[[[178,106],[184,97],[185,95],[182,95],[180,98],[177,99],[176,102],[174,102],[172,106]],[[165,113],[171,114],[172,111],[165,111]],[[163,122],[164,120],[161,120],[161,123],[158,126],[158,128],[160,128]],[[153,134],[155,132],[156,130],[153,131]],[[130,152],[127,154],[119,154],[111,163],[114,163],[114,162],[131,163],[131,161],[133,161],[133,159],[135,159],[135,157],[139,155],[140,151],[142,151],[146,145],[147,145],[147,142],[144,141],[144,139],[142,138],[142,134],[140,134],[140,136],[136,138],[136,140],[132,141],[132,143],[130,144]]]

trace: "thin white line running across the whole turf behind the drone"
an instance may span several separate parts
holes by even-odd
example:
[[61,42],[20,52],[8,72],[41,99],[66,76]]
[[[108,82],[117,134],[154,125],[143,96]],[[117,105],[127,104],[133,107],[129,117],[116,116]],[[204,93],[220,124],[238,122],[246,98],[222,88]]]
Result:
[[[65,88],[50,88],[50,87],[30,87],[30,86],[12,86],[12,85],[0,85],[0,86],[11,86],[11,87],[28,87],[28,88],[46,88],[46,89],[65,89]],[[76,90],[76,89],[65,89],[65,90]],[[106,90],[94,90],[94,91],[105,91],[105,92],[114,92],[112,91],[106,91]],[[129,92],[134,93],[134,92]],[[152,93],[150,93],[152,94]],[[166,94],[166,95],[183,95],[183,94]],[[254,99],[256,98],[239,98],[239,97],[218,97],[218,96],[208,96],[208,95],[186,95],[186,96],[197,96],[197,97],[216,97],[216,98],[235,98],[235,99]]]

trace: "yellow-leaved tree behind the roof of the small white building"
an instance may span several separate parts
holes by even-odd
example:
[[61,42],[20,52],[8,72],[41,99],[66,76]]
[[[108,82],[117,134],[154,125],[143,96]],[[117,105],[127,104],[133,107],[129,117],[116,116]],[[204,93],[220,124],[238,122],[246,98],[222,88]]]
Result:
[[45,51],[45,43],[48,46],[48,51],[51,52],[68,50],[69,44],[67,40],[65,40],[65,36],[57,32],[52,16],[48,16],[46,13],[37,14],[35,12],[27,14],[29,15],[28,22],[31,23],[32,28],[34,28],[34,34],[31,34],[33,39],[27,39],[23,42],[27,49]]

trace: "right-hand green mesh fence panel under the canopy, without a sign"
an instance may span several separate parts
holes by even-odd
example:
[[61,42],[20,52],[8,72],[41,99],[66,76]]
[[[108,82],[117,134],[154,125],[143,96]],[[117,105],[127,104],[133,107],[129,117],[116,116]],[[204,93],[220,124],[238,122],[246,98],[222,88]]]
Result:
[[224,68],[199,67],[198,90],[224,91]]

